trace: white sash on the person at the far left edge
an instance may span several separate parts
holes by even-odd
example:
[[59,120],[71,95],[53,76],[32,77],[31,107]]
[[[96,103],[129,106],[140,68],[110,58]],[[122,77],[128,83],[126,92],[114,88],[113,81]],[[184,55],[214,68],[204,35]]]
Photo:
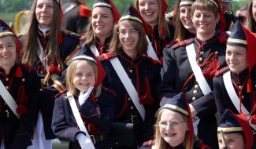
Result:
[[20,118],[20,114],[18,114],[16,111],[16,109],[18,107],[17,103],[13,99],[13,96],[6,89],[6,86],[2,84],[1,80],[0,80],[0,95],[2,96],[2,99],[6,101],[6,104],[13,111],[13,113],[17,116],[17,118]]

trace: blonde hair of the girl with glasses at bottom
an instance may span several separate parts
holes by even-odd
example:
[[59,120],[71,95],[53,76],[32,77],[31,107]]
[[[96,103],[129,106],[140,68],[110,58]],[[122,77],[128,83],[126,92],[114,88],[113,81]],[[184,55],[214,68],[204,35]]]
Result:
[[[155,114],[157,118],[157,122],[154,125],[154,146],[156,149],[166,149],[168,147],[168,143],[162,138],[161,133],[160,133],[160,127],[159,127],[159,122],[161,121],[161,114],[163,111],[168,110],[168,109],[159,109],[157,113]],[[180,114],[181,117],[184,119],[184,122],[187,122],[188,125],[188,118],[184,114]],[[193,130],[189,130],[193,131]],[[194,136],[194,139],[192,140],[191,147],[189,147],[189,131],[187,131],[185,140],[184,140],[184,147],[186,149],[193,149],[193,146],[195,144],[195,141],[198,141],[198,138]]]

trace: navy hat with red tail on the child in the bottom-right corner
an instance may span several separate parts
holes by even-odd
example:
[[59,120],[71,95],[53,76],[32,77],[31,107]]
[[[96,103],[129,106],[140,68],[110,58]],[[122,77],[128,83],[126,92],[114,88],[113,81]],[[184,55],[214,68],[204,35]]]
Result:
[[245,114],[234,114],[230,110],[224,111],[220,118],[217,133],[242,133],[246,149],[251,149],[254,144],[253,131]]

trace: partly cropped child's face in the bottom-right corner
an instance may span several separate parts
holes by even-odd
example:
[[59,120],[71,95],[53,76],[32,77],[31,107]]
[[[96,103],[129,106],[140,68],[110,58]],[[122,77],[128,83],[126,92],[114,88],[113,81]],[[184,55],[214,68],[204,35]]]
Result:
[[239,133],[229,133],[229,134],[223,134],[224,141],[221,139],[221,133],[217,134],[218,142],[219,142],[219,148],[224,148],[224,143],[226,144],[226,147],[228,149],[244,149],[244,142],[243,142],[243,135]]

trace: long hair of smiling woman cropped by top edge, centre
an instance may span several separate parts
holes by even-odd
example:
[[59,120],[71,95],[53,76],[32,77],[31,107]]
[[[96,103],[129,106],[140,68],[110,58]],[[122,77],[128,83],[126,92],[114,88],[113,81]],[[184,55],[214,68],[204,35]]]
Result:
[[[156,1],[158,2],[158,36],[162,39],[170,38],[169,27],[168,27],[168,24],[166,23],[165,16],[161,16],[161,9],[162,9],[161,0],[156,0]],[[136,0],[135,2],[135,9],[137,9],[139,12],[139,0]],[[166,37],[161,35],[162,24],[165,24]]]

